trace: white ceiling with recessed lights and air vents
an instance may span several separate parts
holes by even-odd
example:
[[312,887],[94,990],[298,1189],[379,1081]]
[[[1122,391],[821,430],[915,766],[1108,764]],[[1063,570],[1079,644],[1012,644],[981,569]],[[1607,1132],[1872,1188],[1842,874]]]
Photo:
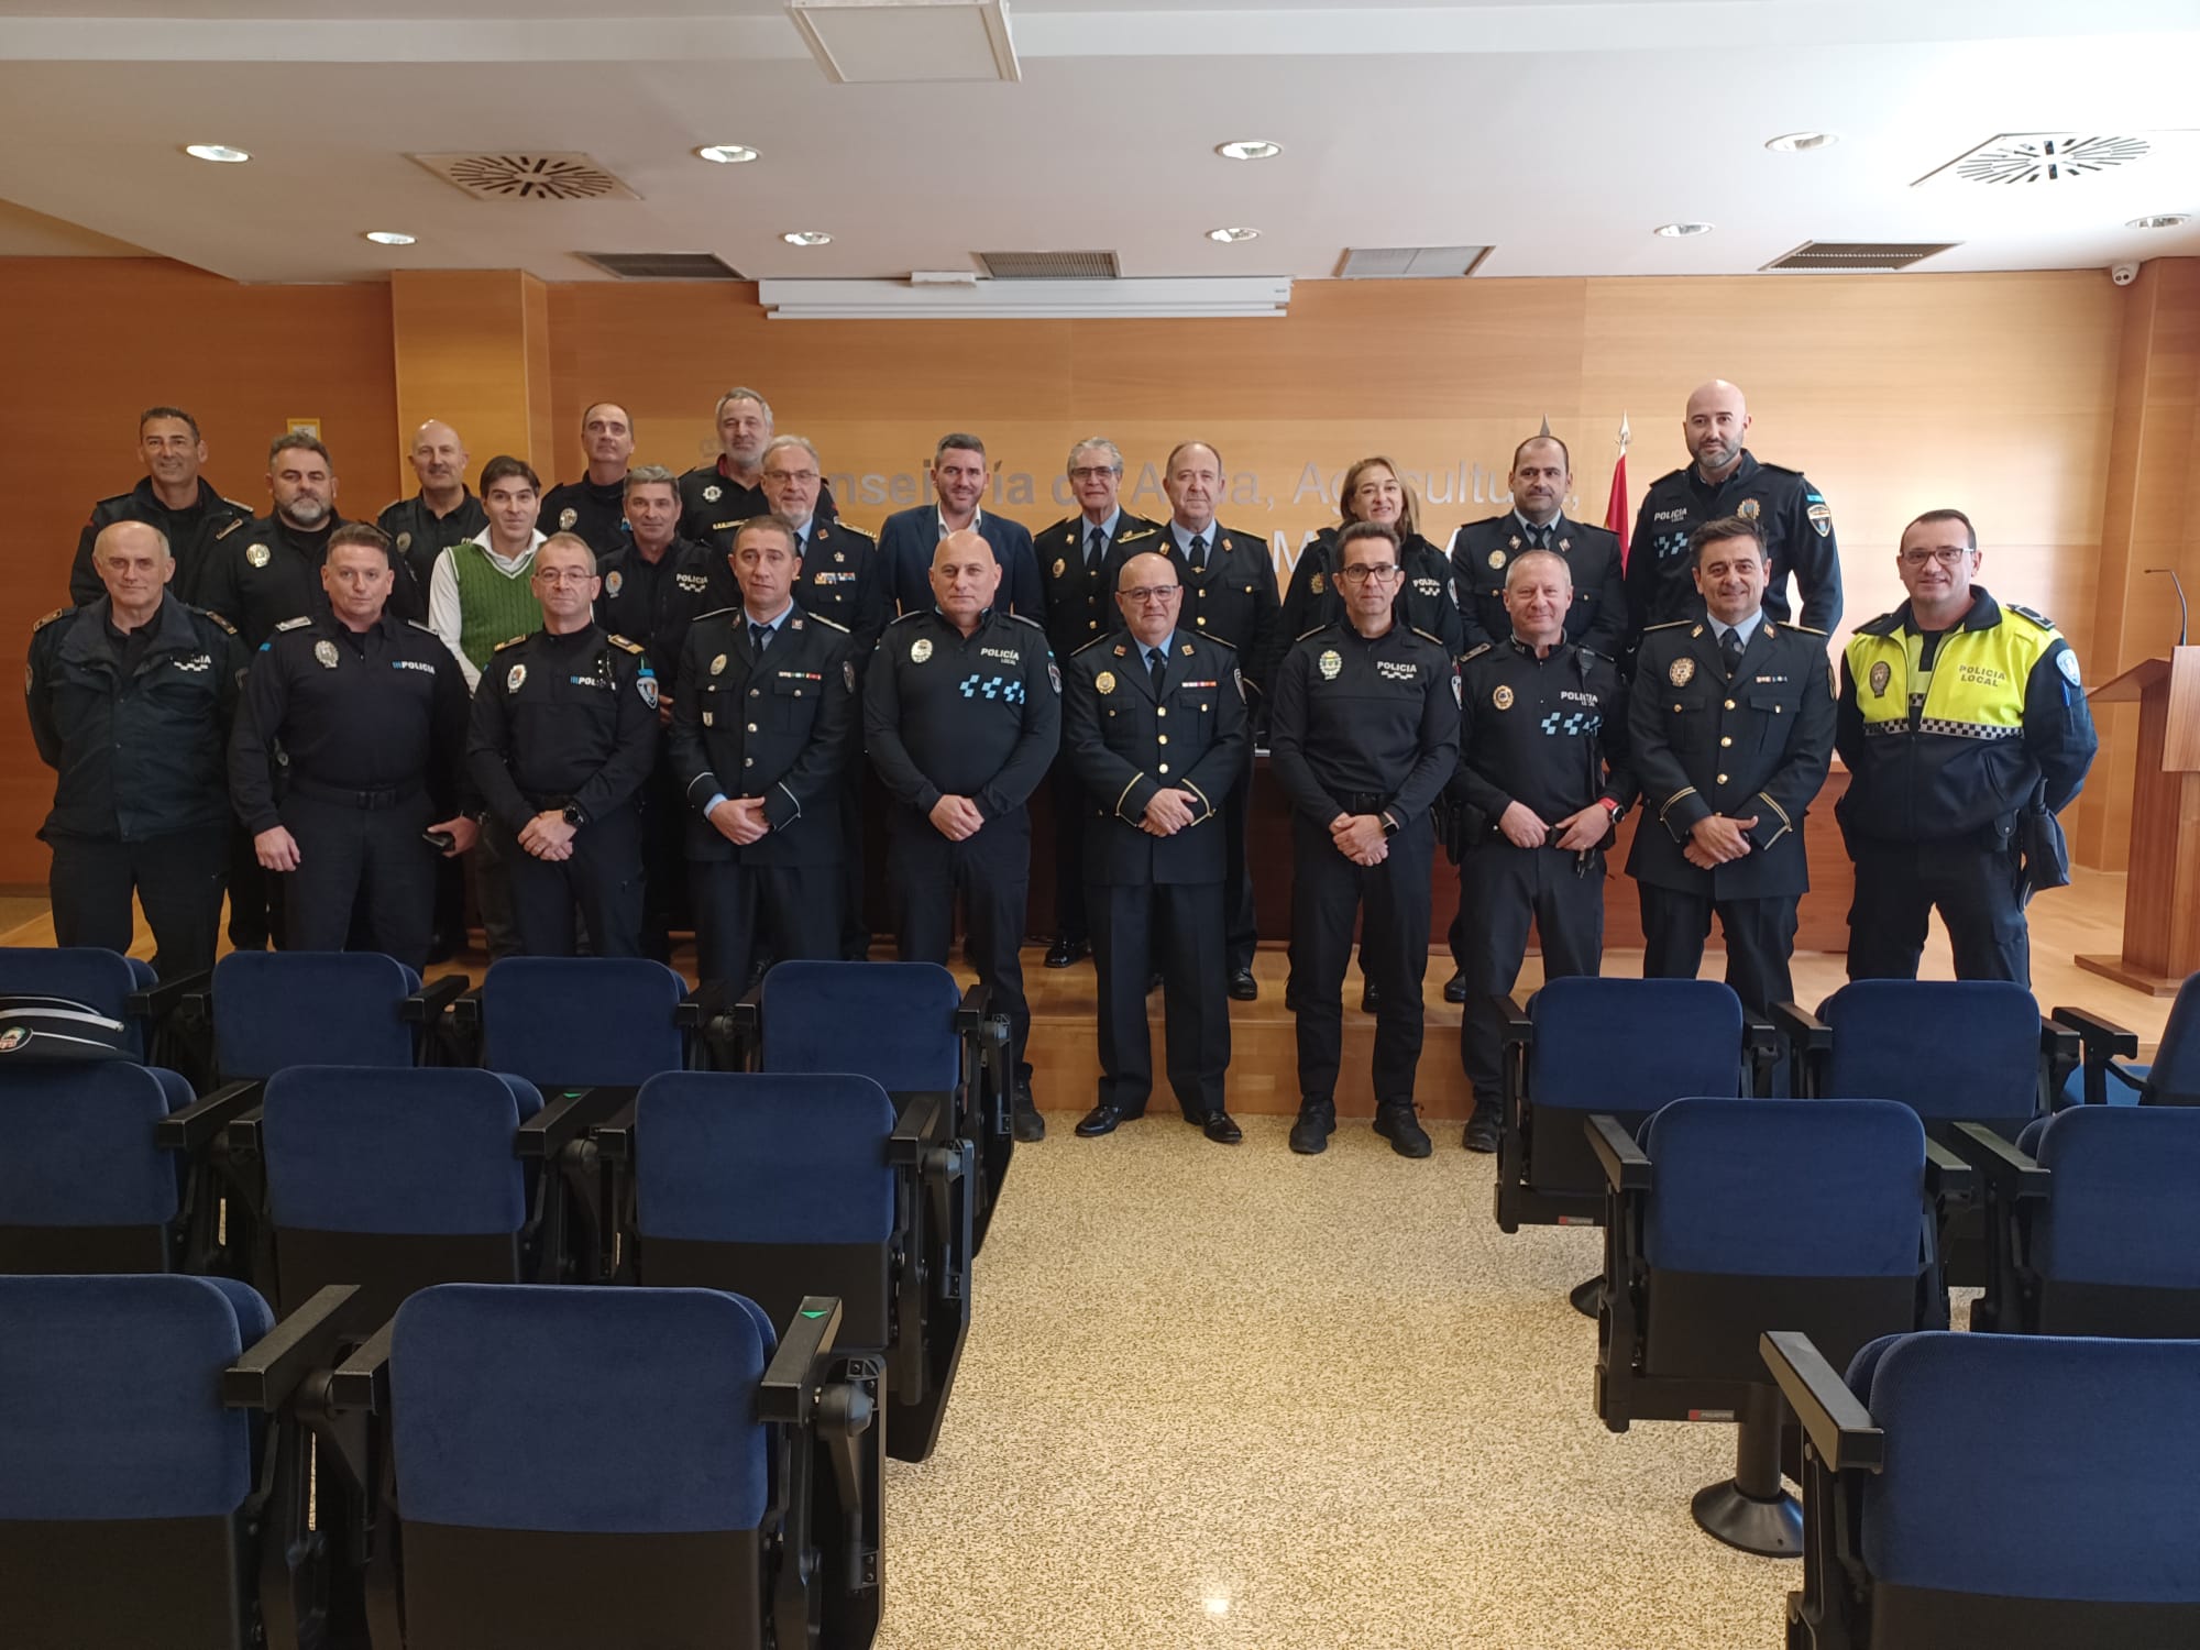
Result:
[[[1401,244],[1487,242],[1476,277],[1745,273],[1804,240],[1965,242],[1923,266],[1947,271],[2200,253],[2200,222],[2123,227],[2200,218],[2193,141],[2075,183],[1912,187],[1998,132],[2200,128],[2200,0],[1010,0],[1021,84],[955,86],[834,86],[779,0],[81,4],[106,15],[0,0],[0,255],[563,282],[601,279],[579,251],[750,277],[1036,249],[1296,277]],[[1762,147],[1797,128],[1844,141]],[[1217,158],[1234,136],[1285,154]],[[414,150],[583,150],[640,200],[477,202]],[[1718,229],[1650,235],[1668,220]],[[1219,224],[1263,233],[1219,246]]]

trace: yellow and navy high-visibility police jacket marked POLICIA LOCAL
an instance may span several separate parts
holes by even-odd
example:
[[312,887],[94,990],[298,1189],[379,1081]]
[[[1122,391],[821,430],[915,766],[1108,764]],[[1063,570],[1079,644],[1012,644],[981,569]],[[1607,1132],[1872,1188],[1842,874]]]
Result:
[[2006,832],[2035,792],[2059,814],[2099,739],[2077,653],[2028,607],[1971,585],[1971,612],[1932,658],[1910,603],[1859,625],[1841,653],[1835,750],[1844,829],[1901,843]]

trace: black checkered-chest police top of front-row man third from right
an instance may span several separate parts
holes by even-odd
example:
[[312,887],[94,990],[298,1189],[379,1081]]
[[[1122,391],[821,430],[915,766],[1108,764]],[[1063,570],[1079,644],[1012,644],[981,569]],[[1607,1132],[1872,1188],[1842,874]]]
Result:
[[1637,796],[1619,667],[1573,642],[1536,658],[1511,631],[1459,660],[1452,796],[1483,816],[1467,840],[1494,836],[1511,803],[1558,825],[1610,801],[1617,821]]

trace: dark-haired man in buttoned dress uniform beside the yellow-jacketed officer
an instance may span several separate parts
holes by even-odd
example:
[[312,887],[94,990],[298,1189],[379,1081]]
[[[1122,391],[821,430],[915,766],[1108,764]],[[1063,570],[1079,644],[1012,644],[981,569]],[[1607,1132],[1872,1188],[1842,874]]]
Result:
[[1694,979],[1716,911],[1727,983],[1762,1016],[1795,994],[1802,821],[1833,759],[1833,680],[1824,636],[1764,618],[1756,521],[1696,528],[1696,592],[1703,618],[1643,631],[1628,695],[1643,977]]

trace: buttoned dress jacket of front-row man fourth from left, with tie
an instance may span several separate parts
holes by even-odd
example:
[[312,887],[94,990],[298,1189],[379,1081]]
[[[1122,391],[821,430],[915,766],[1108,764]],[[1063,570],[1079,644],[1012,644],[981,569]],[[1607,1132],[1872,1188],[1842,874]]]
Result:
[[[856,724],[849,634],[794,607],[759,660],[748,614],[700,616],[680,656],[671,766],[689,803],[691,860],[834,865],[840,774]],[[770,832],[737,847],[704,816],[713,796],[761,796]]]

